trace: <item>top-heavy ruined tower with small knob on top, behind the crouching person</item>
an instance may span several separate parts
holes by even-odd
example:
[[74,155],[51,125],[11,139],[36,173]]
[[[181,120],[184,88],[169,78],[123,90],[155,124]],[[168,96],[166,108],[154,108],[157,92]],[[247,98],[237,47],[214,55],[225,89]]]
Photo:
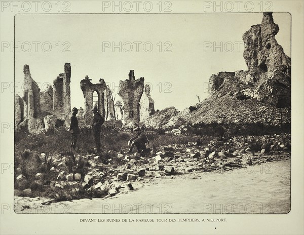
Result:
[[123,122],[139,122],[139,102],[143,93],[144,77],[135,80],[134,70],[130,70],[129,79],[119,82],[118,94],[124,103]]

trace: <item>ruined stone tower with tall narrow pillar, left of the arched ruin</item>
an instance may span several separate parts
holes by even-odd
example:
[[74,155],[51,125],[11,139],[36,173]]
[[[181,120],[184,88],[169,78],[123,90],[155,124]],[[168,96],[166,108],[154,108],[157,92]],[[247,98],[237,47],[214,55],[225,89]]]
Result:
[[70,99],[70,78],[71,78],[71,65],[70,63],[64,64],[64,73],[60,73],[54,80],[53,89],[53,111],[58,117],[71,112],[71,99]]

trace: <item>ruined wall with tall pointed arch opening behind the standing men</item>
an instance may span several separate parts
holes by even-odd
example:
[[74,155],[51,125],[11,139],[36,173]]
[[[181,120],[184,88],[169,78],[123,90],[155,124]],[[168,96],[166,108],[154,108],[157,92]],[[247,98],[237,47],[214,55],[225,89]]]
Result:
[[[99,113],[104,117],[105,109],[104,109],[104,90],[106,89],[106,85],[103,79],[99,80],[99,84],[91,83],[91,79],[89,79],[88,75],[85,79],[80,82],[80,88],[83,91],[85,98],[85,122],[87,125],[92,124],[92,108],[93,106],[93,93],[96,91],[98,94],[98,110]],[[95,105],[95,104],[94,104]]]

